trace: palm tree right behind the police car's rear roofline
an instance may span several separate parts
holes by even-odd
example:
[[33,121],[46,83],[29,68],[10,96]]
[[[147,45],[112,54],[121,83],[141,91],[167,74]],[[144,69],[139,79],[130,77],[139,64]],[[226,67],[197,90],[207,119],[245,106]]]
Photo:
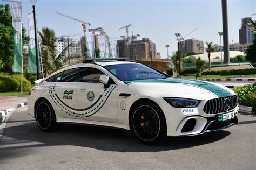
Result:
[[65,55],[69,47],[73,46],[72,43],[57,54],[57,46],[55,45],[57,38],[53,29],[43,27],[42,32],[39,32],[39,36],[41,38],[41,53],[45,77],[60,68],[82,62],[82,57],[78,54]]

